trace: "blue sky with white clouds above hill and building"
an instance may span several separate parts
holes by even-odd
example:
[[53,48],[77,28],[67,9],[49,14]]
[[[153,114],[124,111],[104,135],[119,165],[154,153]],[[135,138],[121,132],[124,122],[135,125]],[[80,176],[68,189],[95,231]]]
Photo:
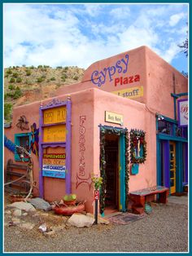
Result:
[[187,58],[178,44],[187,36],[188,5],[4,4],[4,67],[90,64],[138,46],[149,46],[179,71]]

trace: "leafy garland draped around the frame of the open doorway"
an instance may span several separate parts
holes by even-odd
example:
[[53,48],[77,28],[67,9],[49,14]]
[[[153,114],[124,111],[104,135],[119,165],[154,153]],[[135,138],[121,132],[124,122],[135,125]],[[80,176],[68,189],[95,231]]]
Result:
[[103,183],[100,188],[100,213],[103,214],[105,210],[105,196],[107,192],[107,176],[106,176],[106,153],[105,153],[105,135],[124,135],[124,147],[125,147],[125,193],[126,198],[128,199],[129,194],[129,132],[125,129],[118,129],[110,126],[100,126],[100,175],[103,178]]

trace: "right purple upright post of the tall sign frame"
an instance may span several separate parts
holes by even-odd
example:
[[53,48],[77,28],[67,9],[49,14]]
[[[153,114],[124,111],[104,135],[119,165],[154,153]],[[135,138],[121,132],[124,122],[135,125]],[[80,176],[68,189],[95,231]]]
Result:
[[72,137],[72,103],[71,100],[68,99],[67,102],[67,118],[66,118],[66,193],[70,194],[72,192],[72,184],[71,184],[71,137]]

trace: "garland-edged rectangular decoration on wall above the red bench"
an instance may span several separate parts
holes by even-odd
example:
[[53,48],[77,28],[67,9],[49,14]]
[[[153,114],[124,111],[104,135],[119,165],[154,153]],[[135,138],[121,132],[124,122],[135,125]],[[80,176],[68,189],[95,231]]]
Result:
[[133,164],[142,164],[146,161],[146,132],[130,130],[130,158]]

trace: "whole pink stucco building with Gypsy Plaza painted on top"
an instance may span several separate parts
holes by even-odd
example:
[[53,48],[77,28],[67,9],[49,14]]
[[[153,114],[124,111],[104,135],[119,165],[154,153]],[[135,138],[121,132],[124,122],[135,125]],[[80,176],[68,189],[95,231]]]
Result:
[[[188,183],[187,92],[187,78],[142,46],[91,64],[53,99],[15,108],[5,135],[33,147],[35,196],[76,193],[93,212],[90,177],[98,174],[101,213],[124,211],[129,192],[159,185],[172,195]],[[22,116],[29,130],[16,126]],[[20,162],[5,146],[5,167],[8,159]]]

